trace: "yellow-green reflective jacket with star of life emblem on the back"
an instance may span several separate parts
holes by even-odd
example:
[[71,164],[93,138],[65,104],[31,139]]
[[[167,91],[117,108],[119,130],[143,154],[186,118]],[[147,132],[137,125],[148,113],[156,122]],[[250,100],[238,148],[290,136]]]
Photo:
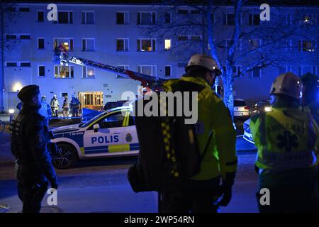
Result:
[[274,108],[250,120],[258,148],[256,165],[262,170],[315,167],[319,130],[311,114],[301,108]]

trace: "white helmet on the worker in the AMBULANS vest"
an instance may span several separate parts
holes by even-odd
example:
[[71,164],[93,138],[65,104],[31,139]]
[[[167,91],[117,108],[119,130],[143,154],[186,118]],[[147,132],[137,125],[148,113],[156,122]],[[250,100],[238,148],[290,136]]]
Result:
[[300,99],[302,96],[303,82],[292,72],[281,74],[272,83],[270,94],[284,94],[295,99]]

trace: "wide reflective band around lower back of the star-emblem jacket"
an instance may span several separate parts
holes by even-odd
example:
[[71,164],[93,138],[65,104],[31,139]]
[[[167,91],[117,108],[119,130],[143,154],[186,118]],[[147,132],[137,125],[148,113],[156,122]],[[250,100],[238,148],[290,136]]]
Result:
[[274,169],[295,169],[311,167],[315,165],[317,158],[312,151],[284,153],[263,151],[262,157],[258,155],[257,161]]

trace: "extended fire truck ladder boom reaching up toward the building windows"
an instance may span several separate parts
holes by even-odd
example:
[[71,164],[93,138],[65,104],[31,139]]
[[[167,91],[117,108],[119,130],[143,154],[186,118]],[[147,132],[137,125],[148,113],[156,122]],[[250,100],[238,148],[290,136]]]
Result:
[[106,65],[99,62],[94,62],[92,60],[88,60],[82,57],[70,56],[67,52],[60,51],[60,50],[54,50],[53,60],[55,63],[59,65],[67,66],[69,65],[69,63],[72,63],[75,65],[94,67],[99,70],[106,70],[108,72],[121,74],[121,76],[125,78],[130,78],[130,79],[140,81],[143,87],[149,87],[152,90],[158,90],[160,85],[166,80],[159,77],[152,77],[147,74],[142,74],[140,72],[125,70],[120,67],[114,67],[112,65]]

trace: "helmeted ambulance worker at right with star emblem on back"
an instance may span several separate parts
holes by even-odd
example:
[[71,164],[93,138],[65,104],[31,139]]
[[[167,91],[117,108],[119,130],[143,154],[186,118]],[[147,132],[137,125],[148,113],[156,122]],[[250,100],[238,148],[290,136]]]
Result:
[[279,75],[270,91],[272,111],[251,118],[250,131],[258,148],[260,212],[315,209],[319,130],[301,107],[302,89],[295,74]]

